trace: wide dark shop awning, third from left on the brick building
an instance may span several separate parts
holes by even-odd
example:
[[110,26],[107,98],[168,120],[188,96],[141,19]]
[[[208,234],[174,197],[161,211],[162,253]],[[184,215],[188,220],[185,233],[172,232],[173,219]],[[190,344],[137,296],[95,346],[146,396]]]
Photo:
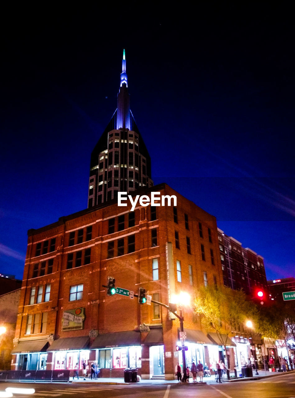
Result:
[[141,334],[134,330],[100,334],[94,340],[91,348],[115,348],[141,345]]

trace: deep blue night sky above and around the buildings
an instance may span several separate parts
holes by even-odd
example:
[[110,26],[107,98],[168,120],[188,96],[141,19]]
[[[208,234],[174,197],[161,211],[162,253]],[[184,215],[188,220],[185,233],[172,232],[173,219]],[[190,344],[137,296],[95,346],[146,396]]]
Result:
[[263,256],[268,279],[294,276],[293,12],[249,7],[4,14],[0,272],[22,278],[27,230],[87,207],[125,47],[154,183]]

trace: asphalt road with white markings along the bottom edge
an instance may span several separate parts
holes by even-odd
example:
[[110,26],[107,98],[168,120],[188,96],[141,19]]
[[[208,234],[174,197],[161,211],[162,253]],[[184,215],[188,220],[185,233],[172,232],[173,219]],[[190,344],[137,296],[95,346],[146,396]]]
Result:
[[187,384],[74,384],[74,383],[0,383],[1,391],[7,387],[34,388],[33,395],[14,394],[18,398],[85,397],[85,398],[295,398],[295,374],[283,374],[262,380]]

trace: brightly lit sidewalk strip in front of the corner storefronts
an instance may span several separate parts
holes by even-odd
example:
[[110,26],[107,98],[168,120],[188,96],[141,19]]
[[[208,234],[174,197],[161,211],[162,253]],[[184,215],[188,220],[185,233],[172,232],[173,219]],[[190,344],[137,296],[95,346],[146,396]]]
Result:
[[[291,373],[295,373],[295,370],[293,371],[289,371],[287,372],[288,374]],[[232,382],[242,382],[242,381],[249,381],[249,380],[261,380],[263,378],[270,378],[270,377],[276,377],[276,376],[282,376],[282,375],[286,375],[287,373],[283,373],[283,372],[266,372],[264,371],[264,369],[259,369],[258,370],[258,375],[253,375],[253,377],[238,377],[238,378],[231,378],[230,380],[227,380],[227,378],[222,378],[221,381],[223,383],[232,383]],[[86,384],[123,384],[123,385],[135,385],[135,384],[145,384],[145,385],[155,385],[155,384],[178,384],[177,380],[144,380],[141,379],[141,381],[139,383],[125,383],[123,378],[106,378],[106,377],[100,377],[96,380],[91,380],[89,378],[87,378],[86,380],[83,380],[83,378],[79,378],[79,380],[77,380],[76,378],[74,380],[72,380],[72,377],[70,378],[70,383],[86,383]],[[205,385],[205,384],[216,384],[216,380],[215,380],[215,376],[212,375],[211,377],[203,377],[203,382],[200,383],[182,383],[182,385],[188,385],[188,384],[194,384],[195,386],[198,385]]]

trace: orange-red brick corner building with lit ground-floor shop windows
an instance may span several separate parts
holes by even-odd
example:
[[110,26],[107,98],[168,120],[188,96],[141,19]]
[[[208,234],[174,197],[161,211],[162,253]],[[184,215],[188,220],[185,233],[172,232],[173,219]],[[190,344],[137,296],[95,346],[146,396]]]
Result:
[[[177,204],[119,207],[117,200],[28,231],[12,369],[73,369],[97,361],[104,377],[137,367],[143,378],[174,378],[179,321],[157,304],[106,295],[107,277],[135,294],[146,289],[167,304],[180,291],[188,366],[213,363],[221,347],[193,314],[194,290],[221,284],[216,219],[166,184],[136,194],[175,195]],[[133,194],[133,199],[135,194]],[[234,343],[232,344],[234,346]],[[165,376],[164,376],[165,375]]]

